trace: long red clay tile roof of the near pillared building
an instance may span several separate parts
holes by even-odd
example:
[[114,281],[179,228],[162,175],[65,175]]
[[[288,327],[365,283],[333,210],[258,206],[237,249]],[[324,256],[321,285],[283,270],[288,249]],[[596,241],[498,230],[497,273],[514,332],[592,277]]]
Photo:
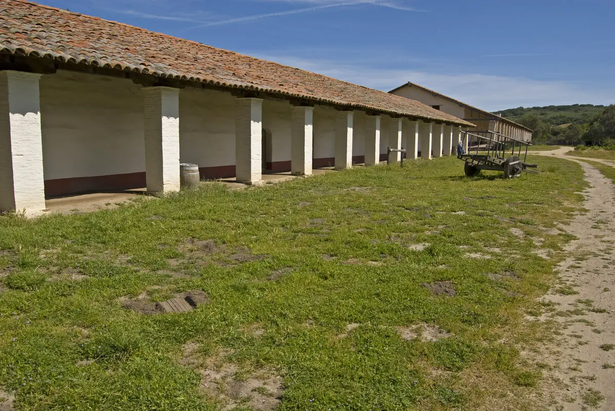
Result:
[[0,53],[51,58],[472,126],[418,101],[24,0],[0,0]]

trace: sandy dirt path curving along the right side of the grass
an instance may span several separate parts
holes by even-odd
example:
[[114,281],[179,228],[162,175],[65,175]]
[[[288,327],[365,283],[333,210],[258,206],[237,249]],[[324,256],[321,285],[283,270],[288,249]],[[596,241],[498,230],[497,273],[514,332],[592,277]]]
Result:
[[545,372],[544,394],[552,399],[552,410],[615,410],[615,184],[567,151],[537,153],[580,163],[591,184],[583,193],[588,212],[560,227],[578,238],[558,266],[569,288],[555,288],[544,297],[555,309],[541,319],[563,327],[557,346],[547,347],[550,352],[538,359],[552,366]]

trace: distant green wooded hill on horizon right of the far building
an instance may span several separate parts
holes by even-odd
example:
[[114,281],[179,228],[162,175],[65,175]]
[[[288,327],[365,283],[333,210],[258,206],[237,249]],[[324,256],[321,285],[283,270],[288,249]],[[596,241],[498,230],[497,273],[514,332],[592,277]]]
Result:
[[513,121],[518,121],[524,114],[534,114],[549,125],[557,126],[590,123],[597,115],[602,114],[605,108],[606,106],[594,106],[593,104],[573,104],[572,106],[519,107],[496,114]]

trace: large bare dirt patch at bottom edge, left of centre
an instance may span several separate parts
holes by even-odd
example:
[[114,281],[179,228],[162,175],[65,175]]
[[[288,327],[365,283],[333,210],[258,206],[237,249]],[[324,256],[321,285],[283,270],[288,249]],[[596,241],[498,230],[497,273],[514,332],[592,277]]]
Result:
[[258,411],[272,411],[280,405],[284,393],[280,375],[266,369],[245,374],[236,364],[224,362],[224,352],[201,359],[198,349],[196,343],[186,344],[178,362],[202,375],[200,392],[220,402],[224,410],[248,407]]

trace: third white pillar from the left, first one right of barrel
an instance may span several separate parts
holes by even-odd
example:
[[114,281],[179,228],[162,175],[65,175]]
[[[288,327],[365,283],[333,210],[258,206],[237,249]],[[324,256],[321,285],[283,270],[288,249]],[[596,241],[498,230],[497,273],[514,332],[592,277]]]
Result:
[[263,178],[263,100],[235,99],[235,175],[238,182],[261,184]]

